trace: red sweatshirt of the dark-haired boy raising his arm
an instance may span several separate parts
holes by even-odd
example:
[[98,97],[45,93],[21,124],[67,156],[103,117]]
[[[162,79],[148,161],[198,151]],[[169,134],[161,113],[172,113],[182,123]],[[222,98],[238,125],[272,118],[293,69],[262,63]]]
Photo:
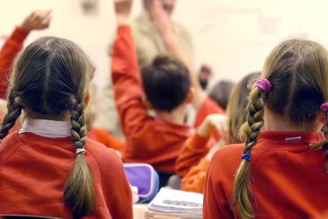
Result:
[[[129,26],[120,26],[117,30],[112,51],[112,77],[115,103],[127,138],[122,160],[148,163],[158,171],[173,173],[181,146],[191,136],[190,127],[148,115],[142,103],[145,95]],[[222,112],[210,98],[203,105],[208,107],[205,112],[198,112],[198,120],[203,120],[208,114]]]

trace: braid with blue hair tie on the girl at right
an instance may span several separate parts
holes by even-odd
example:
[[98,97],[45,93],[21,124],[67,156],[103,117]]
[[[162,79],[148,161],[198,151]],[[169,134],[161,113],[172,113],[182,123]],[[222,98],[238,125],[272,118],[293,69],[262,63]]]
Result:
[[[249,97],[247,106],[247,122],[243,125],[245,134],[244,154],[251,154],[252,148],[257,144],[257,137],[263,126],[264,115],[264,93],[261,89],[255,87]],[[232,197],[233,204],[236,205],[237,213],[240,218],[253,218],[254,212],[250,201],[250,162],[243,159],[238,167],[234,181],[234,193]]]

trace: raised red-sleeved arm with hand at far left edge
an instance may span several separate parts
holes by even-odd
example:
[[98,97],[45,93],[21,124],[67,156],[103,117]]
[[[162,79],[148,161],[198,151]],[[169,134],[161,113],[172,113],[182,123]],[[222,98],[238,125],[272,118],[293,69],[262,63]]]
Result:
[[16,27],[0,51],[0,98],[6,98],[11,65],[16,54],[23,48],[26,36],[32,30],[49,27],[51,10],[37,10],[29,14],[22,24]]

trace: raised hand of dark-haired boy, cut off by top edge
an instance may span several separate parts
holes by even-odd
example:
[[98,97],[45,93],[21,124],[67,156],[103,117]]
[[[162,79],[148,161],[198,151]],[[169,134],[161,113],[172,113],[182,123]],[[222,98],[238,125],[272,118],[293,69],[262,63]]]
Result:
[[132,0],[114,0],[117,25],[130,24]]

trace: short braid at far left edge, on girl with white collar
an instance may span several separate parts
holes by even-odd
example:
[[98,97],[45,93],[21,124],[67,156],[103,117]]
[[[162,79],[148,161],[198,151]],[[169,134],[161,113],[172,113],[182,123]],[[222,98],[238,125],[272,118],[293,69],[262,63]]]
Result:
[[15,102],[15,92],[11,89],[8,95],[7,114],[0,126],[0,139],[3,140],[14,127],[17,118],[22,114],[22,107]]

